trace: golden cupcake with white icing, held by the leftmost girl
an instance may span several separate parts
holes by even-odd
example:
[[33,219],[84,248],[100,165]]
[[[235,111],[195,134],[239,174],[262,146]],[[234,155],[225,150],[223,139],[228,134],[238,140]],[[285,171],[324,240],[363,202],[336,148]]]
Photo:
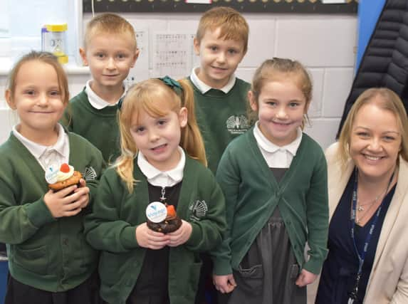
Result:
[[74,184],[79,185],[79,181],[82,178],[82,174],[79,171],[75,171],[69,164],[63,163],[58,170],[52,170],[46,173],[46,180],[48,182],[48,188],[53,191],[59,191],[66,187],[70,187]]

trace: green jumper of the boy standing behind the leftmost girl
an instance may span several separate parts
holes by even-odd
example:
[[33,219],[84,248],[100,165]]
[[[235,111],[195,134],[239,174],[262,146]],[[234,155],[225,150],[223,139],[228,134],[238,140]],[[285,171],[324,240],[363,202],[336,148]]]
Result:
[[117,105],[100,110],[93,108],[85,89],[70,100],[61,123],[69,131],[89,140],[103,154],[108,164],[120,155],[120,135],[117,125]]

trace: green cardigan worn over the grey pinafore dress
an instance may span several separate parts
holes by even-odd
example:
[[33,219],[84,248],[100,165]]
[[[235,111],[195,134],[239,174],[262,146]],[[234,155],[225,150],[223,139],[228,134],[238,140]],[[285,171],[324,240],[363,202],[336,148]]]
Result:
[[222,246],[213,253],[214,273],[238,269],[276,206],[300,267],[319,273],[327,254],[328,186],[325,155],[314,140],[303,134],[291,167],[278,184],[251,128],[226,148],[216,179],[226,198],[227,230]]

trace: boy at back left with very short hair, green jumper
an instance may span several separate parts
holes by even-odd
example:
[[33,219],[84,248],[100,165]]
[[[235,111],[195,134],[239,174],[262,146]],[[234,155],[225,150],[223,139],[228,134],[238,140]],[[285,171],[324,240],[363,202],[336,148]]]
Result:
[[89,21],[79,51],[92,80],[70,100],[62,122],[93,143],[110,163],[120,154],[117,102],[126,93],[123,80],[139,55],[135,30],[121,16],[100,14]]

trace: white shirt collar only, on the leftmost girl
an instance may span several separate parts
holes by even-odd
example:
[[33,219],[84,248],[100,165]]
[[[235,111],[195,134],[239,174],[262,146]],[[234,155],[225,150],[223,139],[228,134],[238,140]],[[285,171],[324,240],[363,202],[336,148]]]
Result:
[[57,128],[58,128],[58,139],[56,143],[52,146],[44,146],[44,145],[39,145],[36,142],[33,142],[31,140],[28,140],[26,137],[23,137],[23,135],[20,134],[20,132],[17,130],[19,125],[15,125],[13,127],[13,135],[17,137],[17,139],[28,149],[31,154],[33,154],[36,159],[39,159],[41,155],[43,155],[46,150],[56,150],[61,156],[63,157],[69,157],[69,145],[66,145],[66,132],[63,128],[62,125],[58,123]]

